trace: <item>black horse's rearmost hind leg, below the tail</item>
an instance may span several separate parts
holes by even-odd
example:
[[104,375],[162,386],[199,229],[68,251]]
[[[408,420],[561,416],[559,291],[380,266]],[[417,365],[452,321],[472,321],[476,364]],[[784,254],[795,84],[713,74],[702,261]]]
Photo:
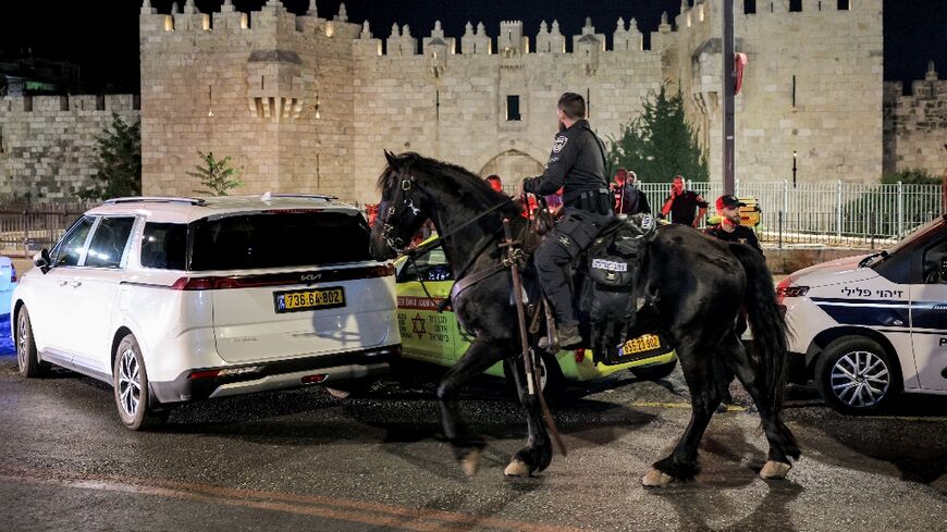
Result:
[[783,423],[779,410],[774,405],[772,392],[762,379],[763,370],[748,354],[743,344],[735,336],[721,343],[721,355],[736,374],[737,379],[753,398],[760,419],[763,422],[763,431],[770,443],[770,453],[766,465],[760,471],[764,479],[782,479],[791,468],[790,458],[799,458],[799,445],[796,436],[789,428]]

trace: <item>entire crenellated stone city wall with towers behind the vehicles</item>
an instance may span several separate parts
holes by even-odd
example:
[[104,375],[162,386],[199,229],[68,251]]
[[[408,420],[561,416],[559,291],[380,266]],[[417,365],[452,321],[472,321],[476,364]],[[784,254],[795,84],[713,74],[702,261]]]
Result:
[[[944,121],[917,117],[920,96],[885,99],[882,0],[852,1],[843,10],[819,0],[804,0],[801,11],[783,0],[754,4],[755,12],[747,13],[737,2],[737,51],[749,57],[736,99],[742,182],[791,178],[794,152],[800,182],[875,182],[883,156],[885,168],[917,159],[943,169],[934,162],[936,150],[924,145],[911,156],[909,147],[923,140],[918,128],[943,136]],[[462,36],[445,36],[432,21],[428,35],[395,24],[376,37],[368,23],[349,23],[344,5],[320,16],[315,0],[302,15],[279,0],[248,13],[230,0],[220,12],[199,13],[193,2],[182,11],[158,13],[146,1],[139,17],[146,194],[192,194],[195,183],[186,172],[199,163],[197,150],[233,157],[244,169],[244,191],[251,194],[376,201],[383,149],[418,151],[513,184],[542,171],[562,92],[586,96],[592,126],[608,138],[665,81],[685,95],[689,120],[710,153],[712,180],[722,173],[718,2],[685,0],[677,16],[664,16],[650,34],[626,16],[599,28],[587,20],[575,36],[562,35],[552,20],[536,34],[519,21],[503,21],[495,36],[474,23]],[[936,114],[928,103],[924,116]],[[63,175],[61,165],[25,159],[22,146],[33,149],[32,128],[46,132],[42,149],[73,153],[88,143],[69,132],[57,136],[50,124],[61,117],[77,121],[75,129],[100,131],[110,120],[110,112],[101,113],[102,124],[95,116],[70,119],[74,107],[57,111],[57,100],[34,107],[33,114],[15,116],[0,107],[0,124],[20,124],[3,126],[3,143],[21,146],[15,157],[0,154],[7,172],[0,198],[44,189],[46,197],[64,197],[89,175],[75,169],[75,182],[57,185],[62,177],[50,175]],[[883,110],[890,120],[883,120]],[[128,112],[136,113],[131,106]],[[28,172],[17,173],[24,166]]]

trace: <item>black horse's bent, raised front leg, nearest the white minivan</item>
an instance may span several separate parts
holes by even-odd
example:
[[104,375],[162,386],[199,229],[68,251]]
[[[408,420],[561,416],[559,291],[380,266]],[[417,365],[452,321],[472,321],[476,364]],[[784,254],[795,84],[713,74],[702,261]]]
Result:
[[484,342],[480,338],[475,339],[460,360],[447,370],[438,386],[444,435],[451,442],[454,456],[467,477],[477,474],[480,453],[487,443],[483,442],[482,437],[471,434],[468,430],[457,405],[457,393],[464,383],[500,361],[504,352],[504,349],[496,343]]

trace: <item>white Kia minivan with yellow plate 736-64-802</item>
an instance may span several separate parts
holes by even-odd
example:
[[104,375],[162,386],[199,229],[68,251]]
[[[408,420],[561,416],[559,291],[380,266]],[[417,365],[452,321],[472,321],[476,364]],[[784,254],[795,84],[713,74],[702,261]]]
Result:
[[20,371],[112,384],[134,430],[185,401],[385,371],[401,350],[394,267],[368,239],[329,196],[106,201],[14,290]]

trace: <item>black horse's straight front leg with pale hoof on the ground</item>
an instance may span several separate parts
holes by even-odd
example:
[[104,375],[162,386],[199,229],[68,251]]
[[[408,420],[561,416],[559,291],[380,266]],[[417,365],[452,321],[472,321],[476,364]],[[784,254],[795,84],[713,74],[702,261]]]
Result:
[[526,447],[513,455],[513,459],[506,466],[506,470],[503,473],[507,477],[529,477],[549,467],[553,455],[552,442],[543,424],[541,405],[539,403],[539,395],[537,395],[539,393],[539,384],[533,382],[536,393],[530,394],[521,356],[511,357],[506,360],[506,363],[513,364],[513,369],[516,371],[516,375],[518,375],[516,392],[519,395],[522,409],[526,411],[529,438],[526,442]]

